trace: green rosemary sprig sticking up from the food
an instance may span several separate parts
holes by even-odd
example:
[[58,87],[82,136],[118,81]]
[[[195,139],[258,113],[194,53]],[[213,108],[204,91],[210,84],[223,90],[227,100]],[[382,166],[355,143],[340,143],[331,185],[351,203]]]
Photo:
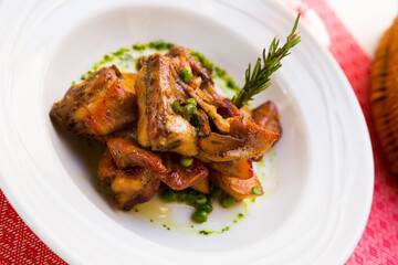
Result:
[[286,43],[279,47],[280,40],[274,38],[271,42],[268,55],[265,56],[265,49],[263,50],[262,59],[263,65],[261,65],[261,59],[259,57],[253,72],[251,72],[251,64],[245,71],[245,83],[242,89],[233,96],[232,103],[241,108],[248,102],[253,100],[253,96],[264,91],[271,85],[271,74],[279,70],[282,64],[281,60],[290,54],[290,50],[300,42],[300,35],[296,33],[297,24],[300,20],[300,13],[294,22],[292,32],[286,39]]

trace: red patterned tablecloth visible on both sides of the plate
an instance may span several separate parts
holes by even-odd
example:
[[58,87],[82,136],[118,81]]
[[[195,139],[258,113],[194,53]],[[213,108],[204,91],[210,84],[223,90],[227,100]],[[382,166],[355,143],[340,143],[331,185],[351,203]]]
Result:
[[[304,0],[326,25],[331,52],[346,74],[368,123],[375,156],[375,193],[365,233],[346,263],[398,264],[398,187],[387,171],[369,115],[370,59],[324,0]],[[305,15],[305,13],[304,13]],[[0,265],[65,264],[23,223],[0,191]]]

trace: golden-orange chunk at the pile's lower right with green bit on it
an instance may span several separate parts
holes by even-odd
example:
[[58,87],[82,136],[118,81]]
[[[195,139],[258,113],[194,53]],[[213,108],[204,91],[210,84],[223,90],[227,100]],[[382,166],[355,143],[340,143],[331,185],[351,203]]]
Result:
[[[250,179],[239,179],[211,170],[209,177],[217,186],[219,186],[219,188],[239,201],[264,194],[261,183],[255,174]],[[254,187],[261,189],[260,194],[253,193]]]

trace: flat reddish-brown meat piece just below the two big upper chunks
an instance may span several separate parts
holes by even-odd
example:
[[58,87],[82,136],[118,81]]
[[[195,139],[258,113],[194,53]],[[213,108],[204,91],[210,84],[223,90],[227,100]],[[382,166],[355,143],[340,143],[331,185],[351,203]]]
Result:
[[107,138],[106,145],[119,169],[138,166],[157,172],[166,172],[161,158],[140,148],[135,141],[124,138]]

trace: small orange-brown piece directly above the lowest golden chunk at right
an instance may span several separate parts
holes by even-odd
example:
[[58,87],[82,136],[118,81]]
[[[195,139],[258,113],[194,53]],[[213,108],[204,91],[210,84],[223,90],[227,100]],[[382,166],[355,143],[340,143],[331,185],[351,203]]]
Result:
[[226,162],[211,162],[208,166],[231,178],[250,179],[254,174],[253,163],[250,159],[240,159]]

